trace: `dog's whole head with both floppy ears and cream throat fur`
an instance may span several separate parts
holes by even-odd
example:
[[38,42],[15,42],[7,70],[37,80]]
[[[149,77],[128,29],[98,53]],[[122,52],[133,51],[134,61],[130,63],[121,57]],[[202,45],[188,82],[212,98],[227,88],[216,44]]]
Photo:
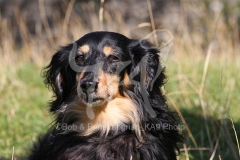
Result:
[[[74,45],[76,51],[70,54]],[[158,52],[147,40],[128,39],[118,33],[93,32],[83,36],[75,44],[61,48],[46,68],[45,82],[56,97],[50,110],[77,113],[76,110],[91,106],[96,116],[103,114],[95,119],[96,123],[140,123],[151,112],[144,105],[156,107],[154,101],[146,101],[155,98],[165,103],[158,97],[164,80]],[[75,103],[69,107],[74,101],[77,106]]]

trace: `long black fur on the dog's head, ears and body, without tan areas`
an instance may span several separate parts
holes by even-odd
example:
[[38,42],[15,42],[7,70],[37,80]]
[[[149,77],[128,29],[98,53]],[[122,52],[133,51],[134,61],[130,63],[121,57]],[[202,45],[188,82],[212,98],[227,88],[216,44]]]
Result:
[[[88,135],[74,129],[65,131],[66,126],[81,126],[81,116],[86,113],[70,109],[77,101],[84,101],[78,93],[78,85],[82,84],[82,81],[78,80],[81,79],[79,75],[82,74],[80,76],[82,78],[85,76],[81,71],[79,73],[74,71],[69,64],[69,55],[73,49],[73,44],[70,44],[55,53],[50,64],[45,68],[45,83],[54,92],[49,108],[56,120],[51,129],[34,145],[29,159],[176,160],[179,153],[177,144],[181,142],[182,136],[174,127],[177,121],[160,89],[165,82],[165,74],[161,71],[159,50],[147,40],[128,39],[113,32],[92,32],[80,38],[76,44],[78,48],[85,45],[83,51],[79,52],[86,52],[84,56],[76,55],[76,64],[79,66],[86,68],[102,62],[103,65],[98,66],[98,71],[119,77],[119,82],[124,81],[126,75],[130,76],[134,73],[134,77],[130,78],[131,83],[118,85],[117,97],[133,102],[139,117],[139,121],[133,121],[140,128],[140,133],[136,133],[134,128],[131,128],[133,125],[131,122],[123,122],[121,125],[124,125],[124,129],[117,128],[106,134],[101,134],[98,130]],[[103,50],[105,46],[110,49]],[[114,54],[111,55],[112,53]],[[125,61],[129,63],[116,74],[117,63]],[[96,81],[98,80],[96,78]],[[81,87],[83,86],[80,86],[80,90],[83,90]],[[98,90],[96,86],[95,89]],[[147,106],[144,96],[147,96],[150,106]],[[106,103],[110,103],[111,100],[114,100],[114,97]],[[91,103],[88,102],[86,95],[85,101],[77,104],[84,106]],[[156,116],[147,111],[149,107],[154,110]],[[65,128],[62,127],[63,124],[66,125]]]

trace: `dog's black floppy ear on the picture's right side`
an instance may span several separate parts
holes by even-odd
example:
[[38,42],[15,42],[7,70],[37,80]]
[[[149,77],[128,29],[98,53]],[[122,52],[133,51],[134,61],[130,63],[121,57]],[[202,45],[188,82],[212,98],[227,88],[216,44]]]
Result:
[[[146,39],[133,40],[129,45],[130,55],[132,57],[132,71],[138,72],[138,81],[143,83],[147,91],[154,89],[154,86],[161,86],[159,79],[161,76],[162,66],[160,65],[160,52]],[[155,82],[158,83],[156,84]],[[163,82],[160,82],[163,83]]]

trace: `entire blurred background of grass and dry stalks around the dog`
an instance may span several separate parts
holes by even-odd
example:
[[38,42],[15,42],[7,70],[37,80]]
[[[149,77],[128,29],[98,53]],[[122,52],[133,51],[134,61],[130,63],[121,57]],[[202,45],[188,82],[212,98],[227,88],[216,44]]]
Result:
[[25,159],[54,119],[41,77],[51,56],[99,30],[161,48],[179,159],[240,159],[239,0],[0,0],[1,160]]

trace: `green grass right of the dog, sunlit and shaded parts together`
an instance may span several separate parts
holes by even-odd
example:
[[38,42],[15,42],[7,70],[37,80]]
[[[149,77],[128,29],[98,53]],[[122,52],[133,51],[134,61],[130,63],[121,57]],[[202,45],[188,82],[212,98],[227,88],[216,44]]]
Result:
[[[170,58],[166,64],[169,80],[165,91],[170,106],[177,105],[193,135],[191,139],[191,134],[183,130],[189,158],[209,159],[216,141],[219,141],[216,157],[238,159],[238,146],[230,118],[234,119],[240,135],[240,76],[236,75],[240,69],[239,63],[234,63],[231,58],[212,57],[203,96],[200,97],[198,90],[201,87],[204,59],[188,57],[180,63],[177,61]],[[186,154],[182,153],[182,158],[185,159]]]

